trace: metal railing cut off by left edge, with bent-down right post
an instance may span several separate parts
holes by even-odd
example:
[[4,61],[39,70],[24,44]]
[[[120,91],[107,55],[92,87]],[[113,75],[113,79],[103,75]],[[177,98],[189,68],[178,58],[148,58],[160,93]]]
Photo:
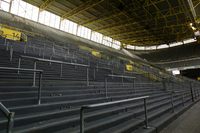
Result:
[[[39,73],[39,84],[38,84],[38,96],[37,96],[37,102],[38,104],[41,103],[41,90],[42,90],[42,73],[43,70],[37,70],[37,69],[24,69],[24,68],[13,68],[13,67],[0,67],[0,70],[14,70],[14,71],[27,71],[27,72],[34,72]],[[36,81],[36,76],[34,77],[34,81]]]

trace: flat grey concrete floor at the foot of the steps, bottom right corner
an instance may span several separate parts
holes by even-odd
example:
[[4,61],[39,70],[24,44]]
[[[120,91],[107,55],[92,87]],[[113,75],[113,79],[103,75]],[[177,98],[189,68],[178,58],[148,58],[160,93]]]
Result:
[[196,103],[160,133],[200,133],[200,102]]

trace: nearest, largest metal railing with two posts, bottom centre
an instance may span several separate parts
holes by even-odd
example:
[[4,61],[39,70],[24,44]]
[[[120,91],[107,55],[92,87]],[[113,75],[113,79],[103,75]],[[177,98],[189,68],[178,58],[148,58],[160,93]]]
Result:
[[118,104],[118,103],[125,103],[125,102],[130,102],[130,101],[135,101],[135,100],[141,100],[141,99],[144,100],[145,128],[148,128],[147,102],[146,102],[147,98],[149,98],[149,96],[129,98],[129,99],[118,100],[118,101],[113,101],[113,102],[106,102],[106,103],[83,105],[80,109],[80,133],[84,133],[84,127],[85,127],[84,126],[84,110],[97,108],[97,107],[101,107],[101,106],[109,106],[109,105]]

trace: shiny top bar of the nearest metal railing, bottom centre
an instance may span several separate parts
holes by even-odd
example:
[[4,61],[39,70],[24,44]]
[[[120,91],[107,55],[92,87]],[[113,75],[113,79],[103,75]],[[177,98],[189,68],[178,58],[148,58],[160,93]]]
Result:
[[124,103],[124,102],[130,102],[130,101],[135,101],[135,100],[140,100],[140,99],[146,99],[146,98],[149,98],[149,96],[142,96],[142,97],[136,97],[136,98],[129,98],[129,99],[118,100],[118,101],[113,101],[113,102],[106,102],[106,103],[98,103],[98,104],[91,104],[91,105],[83,105],[82,108],[84,108],[84,109],[90,109],[90,108],[96,108],[96,107],[100,107],[100,106],[107,106],[107,105],[118,104],[118,103]]

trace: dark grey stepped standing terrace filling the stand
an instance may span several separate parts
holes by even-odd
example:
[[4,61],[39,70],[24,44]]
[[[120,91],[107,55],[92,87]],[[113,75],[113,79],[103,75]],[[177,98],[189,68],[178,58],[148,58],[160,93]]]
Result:
[[[22,55],[43,58],[37,50],[36,53],[24,53],[24,49],[14,50],[11,58],[10,48],[9,45],[6,50],[6,45],[0,43],[0,67],[18,68],[21,58],[20,68],[33,69],[35,60],[23,58]],[[96,66],[98,60],[93,61],[92,58],[88,58],[89,63],[84,63],[84,58],[80,55],[83,56],[76,53],[77,63],[91,65],[89,85],[86,84],[85,67],[63,65],[61,75],[61,64],[37,60],[36,68],[44,71],[40,105],[37,103],[38,82],[36,86],[32,86],[33,72],[0,70],[0,102],[11,112],[15,112],[14,133],[79,133],[82,105],[140,96],[150,96],[147,99],[147,113],[151,128],[143,128],[144,103],[142,100],[136,100],[86,110],[85,132],[156,132],[193,105],[193,100],[199,98],[199,84],[196,82],[193,82],[191,92],[189,81],[179,83],[174,80],[163,84],[134,72],[124,73],[121,69],[124,64],[118,64],[119,70],[116,70],[107,61],[102,66],[99,63],[98,67]],[[68,59],[52,58],[63,62],[67,62]],[[74,59],[70,59],[71,62],[75,63]],[[108,77],[108,75],[131,76],[136,79],[133,82],[133,79],[124,78],[122,82],[122,78]],[[107,78],[107,88],[105,78]],[[0,132],[6,132],[7,122],[5,116],[0,114]]]

